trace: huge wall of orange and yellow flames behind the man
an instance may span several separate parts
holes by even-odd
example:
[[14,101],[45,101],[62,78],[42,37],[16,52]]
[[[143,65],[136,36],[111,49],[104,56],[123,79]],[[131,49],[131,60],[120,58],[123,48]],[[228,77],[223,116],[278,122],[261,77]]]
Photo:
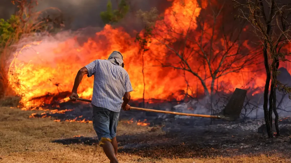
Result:
[[[148,50],[144,54],[145,99],[167,99],[169,96],[174,96],[175,99],[183,98],[181,90],[189,91],[185,78],[192,90],[195,90],[194,93],[204,92],[201,82],[193,74],[187,72],[184,76],[181,70],[156,65],[159,65],[161,60],[176,60],[176,58],[167,56],[171,50],[164,44],[160,44],[158,39],[167,38],[168,43],[177,42],[178,40],[174,38],[180,37],[178,34],[165,31],[169,28],[175,29],[177,33],[195,30],[198,28],[196,20],[191,18],[198,17],[200,11],[206,7],[207,3],[198,5],[198,2],[193,0],[187,0],[184,3],[174,0],[172,6],[164,11],[163,19],[155,23],[154,32],[157,33],[157,37],[147,45]],[[62,33],[58,33],[55,37],[62,37]],[[134,88],[131,93],[132,99],[143,98],[142,60],[139,44],[134,41],[135,37],[131,37],[122,28],[113,28],[110,25],[106,25],[102,31],[95,34],[95,37],[88,39],[82,45],[79,44],[77,36],[68,37],[66,35],[65,40],[56,40],[55,37],[46,37],[43,40],[31,42],[15,52],[15,58],[10,65],[9,81],[13,90],[23,96],[21,102],[24,104],[24,109],[42,105],[44,101],[38,97],[70,92],[80,68],[95,59],[107,59],[114,50],[120,51],[124,56],[125,69],[129,73]],[[198,37],[200,36],[197,35],[197,39]],[[248,41],[245,41],[243,45],[250,48]],[[190,44],[189,46],[184,50],[185,55],[190,51],[189,49],[198,49],[196,45]],[[230,53],[235,52],[235,49]],[[153,56],[158,56],[159,61],[153,59]],[[189,63],[198,75],[210,76],[207,74],[208,71],[200,71],[203,63],[196,60],[196,57],[189,59]],[[219,63],[214,63],[214,66],[217,64]],[[260,66],[263,68],[262,64],[258,65],[258,67]],[[288,65],[283,66],[291,73]],[[250,87],[255,90],[262,91],[265,84],[265,73],[263,70],[257,72],[252,70],[252,68],[246,67],[240,70],[240,73],[228,73],[215,82],[224,83],[223,88],[230,91],[242,88],[246,83],[249,83]],[[251,80],[253,77],[255,80]],[[206,80],[209,90],[210,82],[211,80]],[[91,99],[92,92],[93,78],[84,77],[78,89],[79,97]],[[50,103],[56,99],[46,100],[45,103]],[[59,102],[68,101],[68,97],[57,100]]]

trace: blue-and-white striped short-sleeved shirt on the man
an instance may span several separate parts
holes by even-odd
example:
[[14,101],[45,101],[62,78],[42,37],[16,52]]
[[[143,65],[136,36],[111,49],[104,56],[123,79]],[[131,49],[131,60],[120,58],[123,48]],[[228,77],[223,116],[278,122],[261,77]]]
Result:
[[85,67],[88,70],[88,77],[94,75],[92,104],[120,112],[124,93],[133,90],[126,70],[108,60],[101,59]]

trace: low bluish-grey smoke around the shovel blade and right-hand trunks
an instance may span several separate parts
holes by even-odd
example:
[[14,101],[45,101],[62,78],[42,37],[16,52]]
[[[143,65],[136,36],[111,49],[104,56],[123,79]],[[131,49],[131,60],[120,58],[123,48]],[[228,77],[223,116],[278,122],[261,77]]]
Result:
[[[280,72],[277,76],[277,79],[286,86],[291,86],[291,75],[286,68],[279,68]],[[212,103],[212,108],[214,113],[218,113],[220,110],[226,106],[230,95],[225,93],[217,93],[214,95],[214,102]],[[276,91],[276,106],[279,117],[291,116],[291,100],[288,98],[288,94],[282,93],[281,91]],[[264,110],[263,110],[263,92],[252,95],[252,91],[249,90],[249,93],[246,96],[245,103],[241,112],[241,117],[251,118],[251,119],[263,119]],[[181,103],[173,108],[182,113],[193,113],[193,114],[211,114],[209,97],[203,97],[200,99],[192,99],[189,102]],[[269,107],[269,103],[268,103]],[[273,113],[273,117],[275,117]],[[185,116],[176,116],[176,118],[189,118]]]

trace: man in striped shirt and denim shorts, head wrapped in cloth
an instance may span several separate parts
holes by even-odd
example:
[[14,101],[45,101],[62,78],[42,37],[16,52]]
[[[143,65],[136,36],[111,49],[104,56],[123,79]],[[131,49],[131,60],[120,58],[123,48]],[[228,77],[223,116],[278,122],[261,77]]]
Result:
[[118,51],[113,51],[108,60],[97,59],[91,62],[78,71],[70,96],[70,99],[77,101],[77,88],[83,76],[94,75],[93,127],[110,163],[118,163],[116,127],[121,107],[125,111],[130,110],[129,92],[133,90],[129,75],[123,67],[123,56]]

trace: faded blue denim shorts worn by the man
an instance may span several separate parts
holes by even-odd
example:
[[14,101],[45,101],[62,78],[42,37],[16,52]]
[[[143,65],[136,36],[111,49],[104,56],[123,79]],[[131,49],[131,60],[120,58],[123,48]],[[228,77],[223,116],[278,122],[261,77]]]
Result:
[[116,136],[116,127],[120,112],[110,111],[107,108],[97,107],[93,104],[92,106],[93,128],[99,141],[101,138],[113,139]]

